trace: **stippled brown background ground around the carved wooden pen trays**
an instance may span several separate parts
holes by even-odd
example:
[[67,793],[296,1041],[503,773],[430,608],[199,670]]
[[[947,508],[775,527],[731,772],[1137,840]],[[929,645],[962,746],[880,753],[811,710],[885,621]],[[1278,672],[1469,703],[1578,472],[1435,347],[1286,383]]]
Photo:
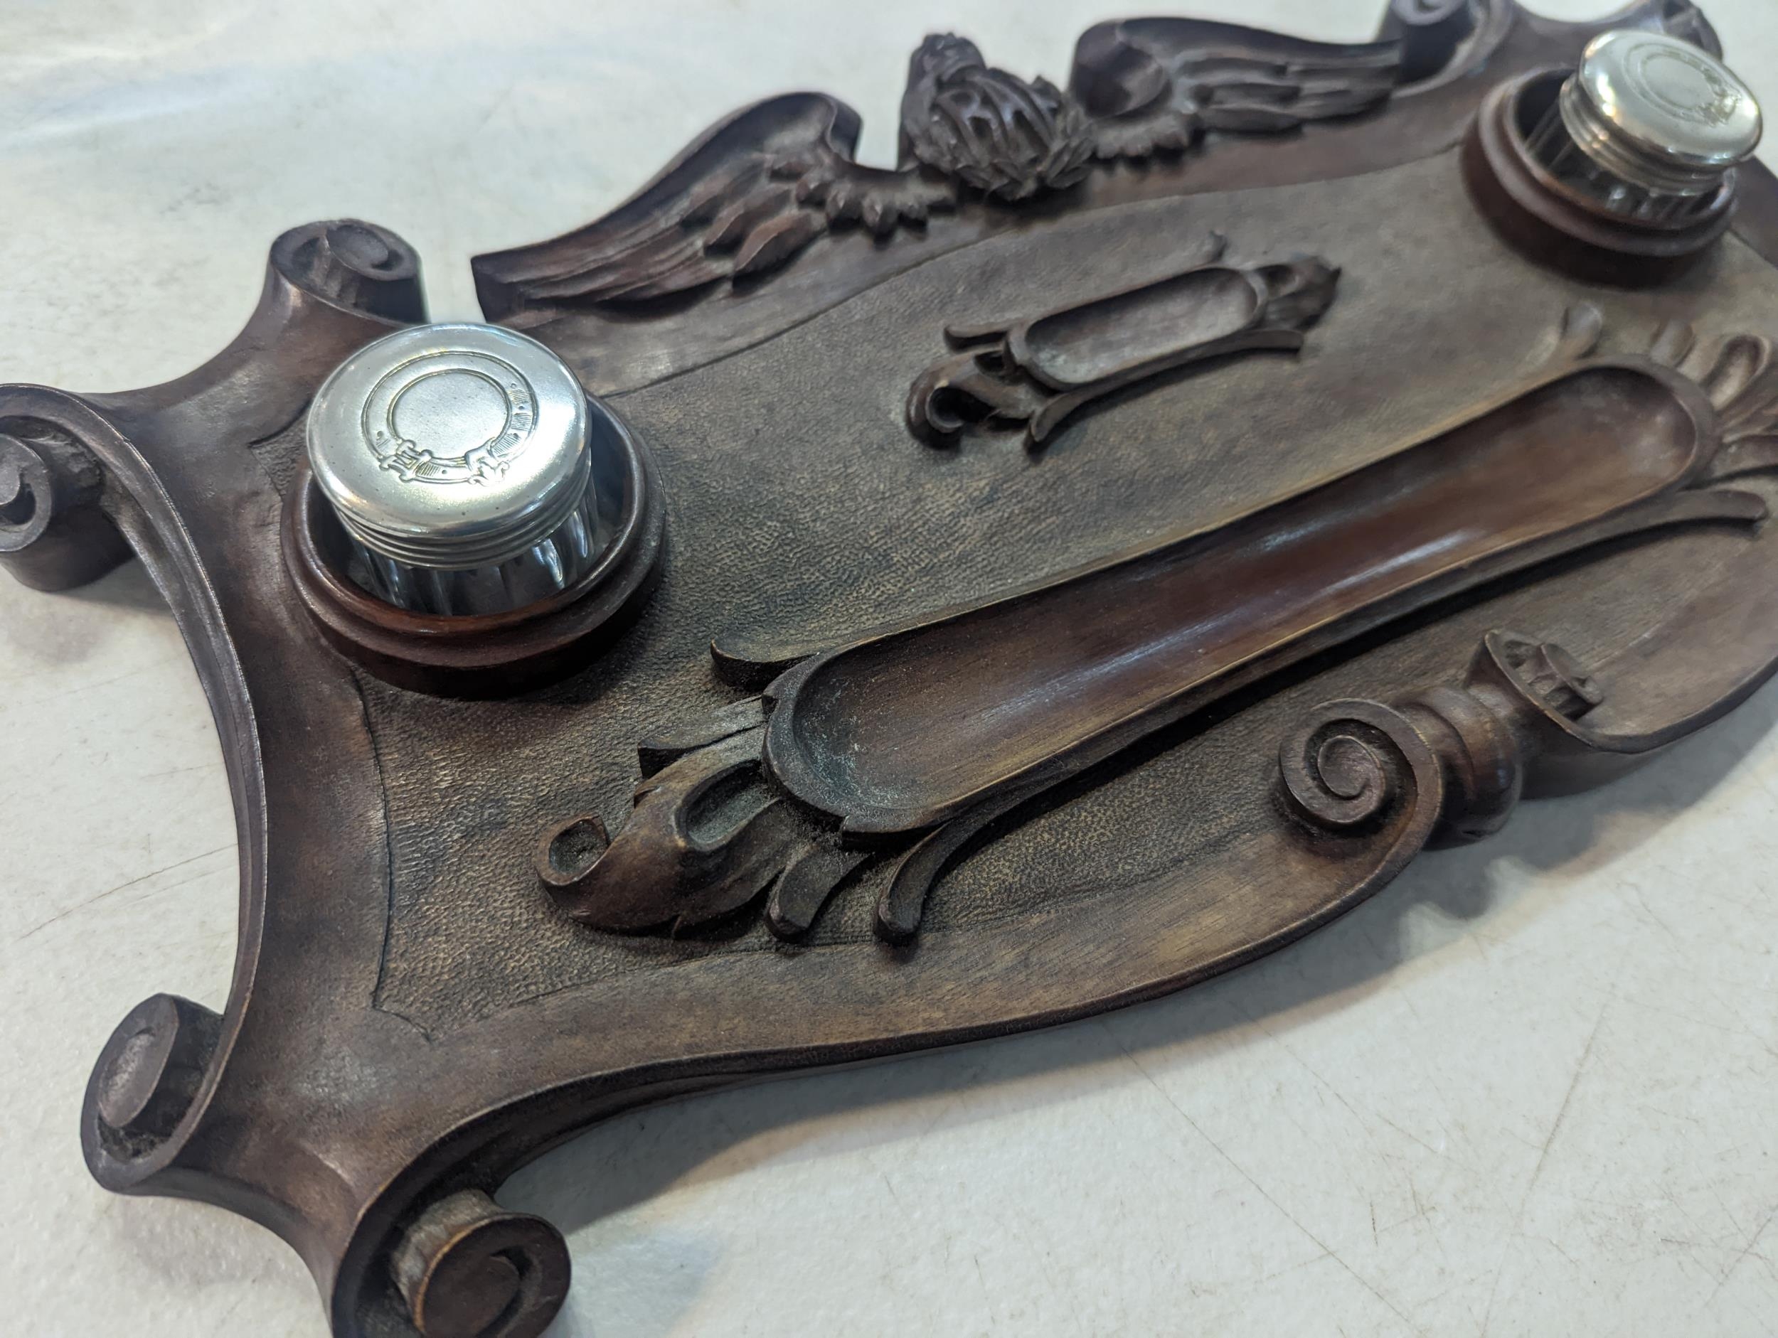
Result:
[[[1684,291],[1657,307],[1652,297],[1533,272],[1469,211],[1456,172],[1447,155],[1309,188],[1061,220],[1040,236],[942,256],[768,345],[621,396],[617,407],[656,448],[669,506],[661,585],[622,641],[580,677],[510,702],[452,704],[363,681],[393,846],[379,1004],[443,1031],[697,954],[880,951],[871,910],[885,867],[841,890],[809,947],[782,949],[757,917],[681,940],[576,926],[537,885],[533,842],[569,812],[599,812],[615,830],[637,780],[635,743],[740,697],[711,675],[713,634],[839,640],[1351,467],[1513,382],[1549,352],[1550,329],[1577,297],[1602,307],[1622,348],[1645,348],[1664,316],[1698,315]],[[1422,206],[1392,211],[1403,197]],[[1300,249],[1342,267],[1341,302],[1300,361],[1145,384],[1058,432],[1035,462],[1012,439],[967,439],[949,455],[909,450],[901,394],[935,325],[1102,291],[1131,251],[1147,256],[1156,236],[1191,245],[1209,229],[1229,236],[1230,254]],[[1177,258],[1152,254],[1152,265],[1163,274]],[[1686,286],[1712,283],[1723,284],[1712,329],[1774,332],[1778,277],[1739,242]],[[1444,304],[1428,291],[1444,293]],[[1451,320],[1453,311],[1465,318]],[[1497,380],[1476,384],[1463,366],[1488,366]],[[1335,400],[1337,416],[1328,412]],[[745,464],[757,453],[772,469]],[[836,494],[829,482],[841,474],[848,489]],[[1494,625],[1534,627],[1588,659],[1636,636],[1650,601],[1678,602],[1746,544],[1735,531],[1668,537],[1570,576],[1490,592],[1417,638],[1410,654],[1394,647],[1387,673],[1380,657],[1364,656],[1314,666],[1312,681],[1220,713],[1220,723],[1170,730],[948,872],[925,933],[1115,896],[1193,851],[1214,851],[1269,801],[1277,739],[1309,705],[1453,679]],[[436,746],[448,752],[444,764],[434,762]],[[1200,785],[1204,775],[1220,784]]]

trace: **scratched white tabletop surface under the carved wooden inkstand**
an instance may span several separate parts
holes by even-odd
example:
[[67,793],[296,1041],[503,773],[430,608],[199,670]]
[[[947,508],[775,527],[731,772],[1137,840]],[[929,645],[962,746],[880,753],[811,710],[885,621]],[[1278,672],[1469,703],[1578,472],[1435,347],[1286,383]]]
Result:
[[[1778,107],[1778,5],[1707,7]],[[334,215],[414,242],[468,318],[466,256],[583,222],[740,103],[839,92],[885,162],[923,32],[1060,78],[1118,9],[9,0],[0,380],[185,371],[270,238]],[[1330,39],[1380,9],[1195,5]],[[596,1130],[503,1192],[569,1230],[551,1334],[1778,1334],[1774,716],[1767,689],[1172,1000]],[[139,567],[0,581],[0,1333],[320,1338],[283,1244],[112,1198],[76,1146],[117,1018],[220,1006],[235,944],[215,734]]]

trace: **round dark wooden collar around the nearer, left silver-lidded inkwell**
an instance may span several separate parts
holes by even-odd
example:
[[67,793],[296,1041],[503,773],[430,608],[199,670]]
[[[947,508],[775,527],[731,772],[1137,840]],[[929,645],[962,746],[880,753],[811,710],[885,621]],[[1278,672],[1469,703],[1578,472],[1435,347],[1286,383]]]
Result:
[[377,599],[347,574],[345,531],[308,462],[284,496],[284,570],[327,641],[400,688],[500,697],[560,679],[640,609],[661,554],[663,506],[647,448],[603,405],[590,448],[603,547],[580,579],[548,599],[461,617]]

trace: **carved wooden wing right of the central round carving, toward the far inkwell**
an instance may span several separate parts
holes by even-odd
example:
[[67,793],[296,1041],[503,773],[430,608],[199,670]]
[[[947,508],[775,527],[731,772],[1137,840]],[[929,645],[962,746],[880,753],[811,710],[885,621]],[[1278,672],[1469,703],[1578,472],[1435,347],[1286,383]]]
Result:
[[1275,133],[1376,107],[1399,43],[1312,43],[1234,23],[1131,20],[1090,28],[1070,91],[1101,158],[1181,153],[1207,130]]

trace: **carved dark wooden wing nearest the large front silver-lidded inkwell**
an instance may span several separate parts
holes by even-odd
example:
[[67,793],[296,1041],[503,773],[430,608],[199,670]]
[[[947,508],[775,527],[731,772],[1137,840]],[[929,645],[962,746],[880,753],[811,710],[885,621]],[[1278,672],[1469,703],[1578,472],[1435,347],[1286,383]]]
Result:
[[756,103],[717,124],[599,222],[475,261],[489,318],[535,304],[644,302],[784,265],[836,226],[887,235],[955,208],[921,169],[853,162],[859,115],[823,94]]

